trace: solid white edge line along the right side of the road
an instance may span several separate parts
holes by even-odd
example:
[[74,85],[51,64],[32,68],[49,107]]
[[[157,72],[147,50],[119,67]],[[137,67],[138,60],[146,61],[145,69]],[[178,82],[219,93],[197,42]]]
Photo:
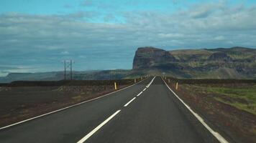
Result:
[[[163,78],[162,78],[163,80]],[[165,80],[163,80],[163,82],[165,82]],[[170,87],[168,86],[168,84],[165,85],[168,87],[168,89],[170,89]],[[171,92],[173,92],[172,89],[170,89]],[[202,117],[200,117],[198,114],[196,114],[196,112],[193,112],[193,110],[191,109],[191,107],[189,107],[185,102],[183,102],[182,99],[180,99],[180,97],[178,97],[177,94],[175,94],[175,92],[173,92],[173,94],[175,95],[175,97],[177,97],[181,103],[183,103],[185,105],[185,107],[187,107],[187,109],[196,117],[196,119],[198,119],[199,122],[201,122],[201,124],[204,125],[204,127],[206,127],[206,129],[209,130],[209,132],[211,132],[211,134],[214,135],[214,137],[216,137],[216,139],[219,140],[219,142],[221,143],[228,143],[226,139],[224,139],[224,137],[221,136],[221,134],[219,134],[218,132],[215,132],[213,129],[211,129],[211,127],[209,127],[208,124],[206,124],[206,122],[204,122],[204,119]]]

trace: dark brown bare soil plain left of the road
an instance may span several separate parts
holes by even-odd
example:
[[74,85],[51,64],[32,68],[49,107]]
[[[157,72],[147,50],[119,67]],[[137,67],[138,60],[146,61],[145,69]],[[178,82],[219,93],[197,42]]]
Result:
[[[118,80],[118,89],[133,83],[134,79]],[[60,84],[14,82],[0,87],[0,127],[114,92],[114,81],[109,80]]]

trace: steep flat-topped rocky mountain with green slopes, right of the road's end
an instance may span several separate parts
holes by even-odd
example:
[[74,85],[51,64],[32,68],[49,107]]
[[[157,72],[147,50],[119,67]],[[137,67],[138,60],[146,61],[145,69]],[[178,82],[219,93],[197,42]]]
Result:
[[193,79],[256,79],[256,49],[137,49],[133,70]]

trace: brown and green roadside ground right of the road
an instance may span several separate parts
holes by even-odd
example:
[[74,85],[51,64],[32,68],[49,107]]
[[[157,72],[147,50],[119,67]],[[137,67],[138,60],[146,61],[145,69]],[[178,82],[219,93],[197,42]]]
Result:
[[164,79],[224,137],[232,142],[256,142],[256,80]]

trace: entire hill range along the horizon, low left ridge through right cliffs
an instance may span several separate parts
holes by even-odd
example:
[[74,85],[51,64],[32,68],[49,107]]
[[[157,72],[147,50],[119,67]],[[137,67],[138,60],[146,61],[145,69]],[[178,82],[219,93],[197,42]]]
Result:
[[[132,70],[73,71],[73,79],[127,79],[147,74],[166,74],[184,79],[256,79],[256,49],[183,49],[165,51],[152,46],[135,52]],[[13,81],[58,81],[63,71],[9,73],[0,83]]]

